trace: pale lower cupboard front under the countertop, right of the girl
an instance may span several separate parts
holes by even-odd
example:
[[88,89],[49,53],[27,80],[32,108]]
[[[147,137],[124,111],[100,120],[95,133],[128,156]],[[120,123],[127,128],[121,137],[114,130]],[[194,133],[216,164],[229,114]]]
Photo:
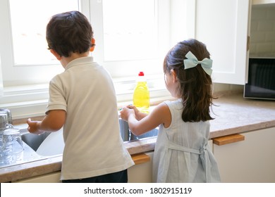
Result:
[[244,141],[213,145],[221,182],[275,182],[275,127],[241,135]]

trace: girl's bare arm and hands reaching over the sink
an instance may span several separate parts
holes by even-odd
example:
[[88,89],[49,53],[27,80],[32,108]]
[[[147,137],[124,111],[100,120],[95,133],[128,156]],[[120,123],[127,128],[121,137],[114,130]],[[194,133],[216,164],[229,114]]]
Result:
[[171,113],[165,103],[159,104],[149,115],[145,115],[141,120],[136,117],[133,107],[123,108],[121,110],[121,118],[128,121],[130,130],[137,136],[149,132],[161,124],[164,124],[164,127],[169,127],[171,124]]

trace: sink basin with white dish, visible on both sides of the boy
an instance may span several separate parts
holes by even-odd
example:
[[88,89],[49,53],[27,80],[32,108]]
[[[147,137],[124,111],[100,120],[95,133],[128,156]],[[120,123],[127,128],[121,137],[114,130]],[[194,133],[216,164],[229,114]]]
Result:
[[[119,127],[121,132],[121,138],[123,141],[137,140],[150,136],[157,136],[159,129],[152,129],[145,134],[135,136],[130,132],[128,122],[119,119]],[[63,131],[62,129],[58,132],[46,132],[44,134],[30,134],[27,129],[21,129],[22,140],[30,146],[38,155],[58,155],[63,153]]]

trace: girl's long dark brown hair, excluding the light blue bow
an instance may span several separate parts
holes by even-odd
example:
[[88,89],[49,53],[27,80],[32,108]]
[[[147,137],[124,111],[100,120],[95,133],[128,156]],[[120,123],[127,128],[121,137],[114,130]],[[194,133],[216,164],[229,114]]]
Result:
[[212,79],[198,64],[195,68],[184,69],[183,60],[191,51],[198,61],[210,58],[206,46],[196,39],[179,42],[164,59],[164,74],[171,69],[176,72],[179,82],[178,92],[183,101],[182,119],[184,122],[213,120],[209,106],[212,106]]

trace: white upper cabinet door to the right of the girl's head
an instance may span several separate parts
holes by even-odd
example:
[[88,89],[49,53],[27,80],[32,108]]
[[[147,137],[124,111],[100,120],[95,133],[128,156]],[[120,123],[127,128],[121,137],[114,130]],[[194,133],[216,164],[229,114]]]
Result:
[[213,82],[245,84],[249,0],[197,0],[195,37],[213,59]]

